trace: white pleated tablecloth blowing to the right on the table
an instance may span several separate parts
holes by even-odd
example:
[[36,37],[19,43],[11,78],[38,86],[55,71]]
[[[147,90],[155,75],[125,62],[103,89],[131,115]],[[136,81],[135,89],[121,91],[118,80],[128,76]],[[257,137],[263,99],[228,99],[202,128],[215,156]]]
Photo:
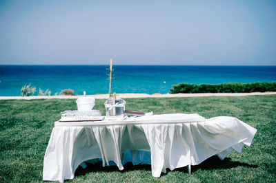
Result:
[[162,114],[97,122],[55,122],[43,163],[43,180],[73,179],[79,164],[101,158],[151,164],[152,175],[196,165],[213,155],[250,146],[257,129],[237,118],[206,119],[199,114]]

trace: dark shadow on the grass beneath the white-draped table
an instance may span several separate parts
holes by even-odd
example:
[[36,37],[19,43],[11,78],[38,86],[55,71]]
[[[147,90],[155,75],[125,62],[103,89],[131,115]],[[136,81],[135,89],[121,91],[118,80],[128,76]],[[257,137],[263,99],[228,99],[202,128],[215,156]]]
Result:
[[[204,162],[201,162],[201,164],[192,166],[192,173],[201,169],[201,170],[215,170],[215,169],[232,169],[237,166],[246,166],[250,168],[257,168],[257,165],[254,164],[247,164],[237,161],[231,161],[231,158],[225,158],[224,160],[220,160],[217,155],[214,155]],[[81,176],[86,175],[86,173],[90,172],[113,172],[113,171],[119,171],[120,173],[125,173],[128,171],[139,171],[139,170],[145,170],[145,171],[151,171],[151,165],[150,164],[138,164],[133,165],[131,162],[128,162],[124,165],[124,170],[119,171],[117,166],[105,166],[103,167],[101,165],[101,162],[97,162],[97,164],[87,164],[86,169],[82,169],[81,166],[79,166],[75,172],[75,176]],[[166,169],[167,173],[170,172],[170,169]],[[181,167],[178,169],[174,169],[172,171],[179,171],[183,173],[188,173],[187,167]],[[162,175],[166,175],[167,173],[161,173]]]

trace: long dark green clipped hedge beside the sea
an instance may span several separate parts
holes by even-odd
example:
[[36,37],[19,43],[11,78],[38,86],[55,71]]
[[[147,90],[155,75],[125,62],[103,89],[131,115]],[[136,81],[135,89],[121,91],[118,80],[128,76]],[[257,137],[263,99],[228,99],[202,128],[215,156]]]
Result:
[[223,83],[218,85],[210,84],[188,84],[179,83],[172,85],[170,94],[178,93],[250,93],[250,92],[276,92],[276,82],[272,83]]

